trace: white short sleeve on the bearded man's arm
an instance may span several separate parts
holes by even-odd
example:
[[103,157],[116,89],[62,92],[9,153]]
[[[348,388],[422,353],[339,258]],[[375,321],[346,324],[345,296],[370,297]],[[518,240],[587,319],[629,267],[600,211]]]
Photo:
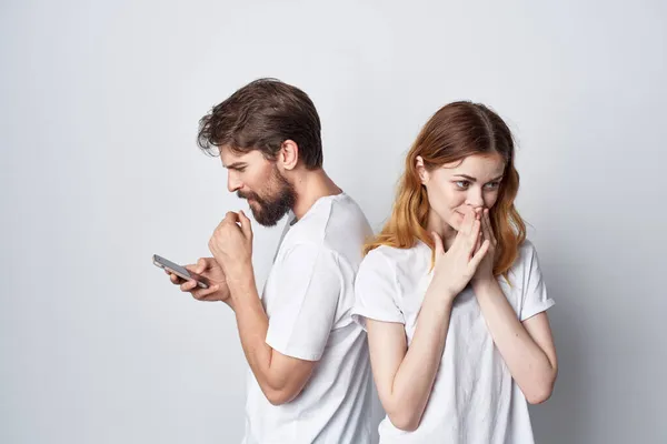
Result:
[[319,361],[341,292],[337,255],[318,245],[298,244],[276,265],[278,294],[266,342],[283,355]]

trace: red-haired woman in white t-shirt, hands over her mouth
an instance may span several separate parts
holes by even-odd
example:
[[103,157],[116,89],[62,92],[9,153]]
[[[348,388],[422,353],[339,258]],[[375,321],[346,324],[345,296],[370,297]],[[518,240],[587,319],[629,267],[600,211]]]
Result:
[[532,443],[527,403],[557,360],[537,254],[514,206],[505,122],[455,102],[406,159],[391,218],[365,248],[352,316],[368,331],[380,443]]

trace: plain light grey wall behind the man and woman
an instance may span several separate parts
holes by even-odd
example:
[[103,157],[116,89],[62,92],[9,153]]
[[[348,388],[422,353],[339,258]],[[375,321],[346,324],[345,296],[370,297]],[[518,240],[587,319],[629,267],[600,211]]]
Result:
[[[306,90],[326,169],[378,229],[440,105],[519,143],[518,208],[560,360],[539,443],[665,443],[660,1],[19,1],[0,6],[0,442],[235,443],[232,313],[151,264],[228,210],[198,119],[258,77]],[[260,283],[279,230],[256,225]]]

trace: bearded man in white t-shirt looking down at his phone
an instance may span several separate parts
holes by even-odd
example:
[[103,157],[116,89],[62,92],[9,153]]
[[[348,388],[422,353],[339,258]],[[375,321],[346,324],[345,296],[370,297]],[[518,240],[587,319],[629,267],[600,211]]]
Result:
[[260,79],[201,119],[198,142],[220,155],[229,191],[248,201],[258,223],[290,214],[261,296],[242,211],[227,213],[213,232],[212,258],[189,265],[209,289],[171,275],[196,299],[235,311],[252,372],[243,443],[370,442],[366,334],[349,312],[372,231],[322,169],[315,105],[295,87]]

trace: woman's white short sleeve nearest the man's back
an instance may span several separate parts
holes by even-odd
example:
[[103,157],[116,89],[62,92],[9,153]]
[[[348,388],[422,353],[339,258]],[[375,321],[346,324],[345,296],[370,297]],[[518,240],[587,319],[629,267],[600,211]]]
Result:
[[377,250],[366,255],[355,280],[352,320],[366,329],[366,320],[405,324],[398,305],[398,285],[389,260]]

